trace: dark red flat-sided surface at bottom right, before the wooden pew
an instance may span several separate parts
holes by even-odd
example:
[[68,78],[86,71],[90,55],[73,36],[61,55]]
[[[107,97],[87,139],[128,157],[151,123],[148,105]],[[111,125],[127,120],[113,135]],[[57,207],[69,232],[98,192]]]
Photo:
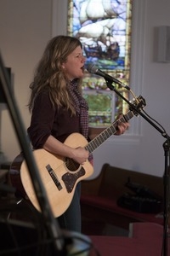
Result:
[[[164,245],[163,229],[159,224],[131,224],[129,236],[90,236],[94,250],[89,256],[168,256],[170,240]],[[96,251],[97,250],[97,251]]]

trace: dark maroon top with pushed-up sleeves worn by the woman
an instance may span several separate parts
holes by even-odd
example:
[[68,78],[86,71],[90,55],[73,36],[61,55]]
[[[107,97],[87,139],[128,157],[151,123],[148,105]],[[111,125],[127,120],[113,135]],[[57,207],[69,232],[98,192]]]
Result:
[[42,148],[50,135],[64,143],[71,133],[80,132],[79,118],[64,108],[54,108],[43,92],[37,96],[27,132],[34,149]]

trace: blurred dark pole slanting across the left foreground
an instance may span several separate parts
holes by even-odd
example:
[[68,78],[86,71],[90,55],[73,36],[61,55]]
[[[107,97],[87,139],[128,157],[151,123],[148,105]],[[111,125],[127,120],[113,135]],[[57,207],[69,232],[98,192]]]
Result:
[[[48,232],[48,238],[52,241],[53,253],[59,253],[58,255],[65,255],[64,252],[64,240],[61,236],[61,231],[59,230],[59,225],[53,216],[51,208],[49,206],[48,197],[46,191],[43,187],[41,177],[37,170],[36,162],[31,153],[30,143],[26,136],[26,131],[20,118],[20,113],[17,105],[13,98],[13,93],[10,90],[10,81],[8,78],[8,73],[3,66],[3,59],[0,54],[0,85],[2,87],[1,94],[4,96],[5,102],[8,104],[9,113],[13,120],[14,129],[16,131],[17,137],[20,142],[20,147],[23,150],[24,156],[26,158],[26,164],[31,175],[32,185],[35,189],[37,200],[39,202],[40,208],[42,210],[42,218],[44,219],[44,224]],[[1,89],[1,88],[0,88]],[[55,254],[54,253],[54,254]],[[63,254],[64,253],[64,254]]]

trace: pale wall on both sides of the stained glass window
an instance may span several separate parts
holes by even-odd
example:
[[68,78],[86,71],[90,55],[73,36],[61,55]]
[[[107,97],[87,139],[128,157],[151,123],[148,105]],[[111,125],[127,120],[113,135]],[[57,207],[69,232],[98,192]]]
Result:
[[[57,6],[57,16],[52,7]],[[133,14],[133,53],[131,87],[137,96],[144,96],[144,110],[170,133],[169,81],[170,64],[154,61],[155,28],[170,26],[169,0],[135,0]],[[27,111],[33,69],[42,50],[52,36],[66,32],[66,1],[1,0],[0,45],[3,60],[14,73],[14,95],[26,127],[30,122]],[[52,26],[56,22],[57,26]],[[135,89],[138,88],[138,89]],[[0,106],[0,108],[3,108]],[[8,160],[14,160],[20,147],[14,134],[8,110],[1,111],[0,146]],[[131,121],[130,121],[131,122]],[[108,162],[138,172],[162,176],[164,173],[165,138],[142,117],[132,122],[139,129],[134,137],[111,137],[94,152],[94,176]]]

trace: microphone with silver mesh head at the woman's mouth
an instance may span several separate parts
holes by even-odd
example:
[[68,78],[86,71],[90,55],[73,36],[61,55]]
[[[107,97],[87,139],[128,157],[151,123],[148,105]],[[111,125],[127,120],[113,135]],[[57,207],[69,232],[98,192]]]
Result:
[[114,82],[116,84],[121,85],[122,87],[125,87],[127,90],[130,90],[130,88],[127,85],[122,84],[121,81],[119,81],[118,79],[115,79],[113,77],[111,77],[109,74],[101,71],[98,67],[96,67],[94,64],[90,64],[87,67],[88,73],[94,73],[99,75],[100,77],[103,77],[106,81],[111,81]]

